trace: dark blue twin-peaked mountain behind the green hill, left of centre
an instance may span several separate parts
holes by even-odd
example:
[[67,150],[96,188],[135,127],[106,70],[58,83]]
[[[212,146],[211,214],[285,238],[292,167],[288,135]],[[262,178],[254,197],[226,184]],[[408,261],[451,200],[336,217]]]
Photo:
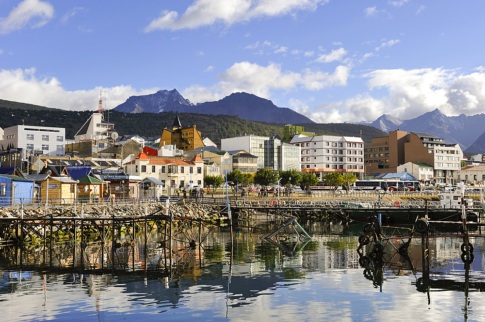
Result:
[[215,102],[194,105],[174,89],[153,94],[130,96],[125,103],[113,108],[125,113],[180,112],[198,114],[226,114],[249,121],[270,123],[314,123],[306,116],[287,107],[277,107],[272,101],[245,92],[232,93]]

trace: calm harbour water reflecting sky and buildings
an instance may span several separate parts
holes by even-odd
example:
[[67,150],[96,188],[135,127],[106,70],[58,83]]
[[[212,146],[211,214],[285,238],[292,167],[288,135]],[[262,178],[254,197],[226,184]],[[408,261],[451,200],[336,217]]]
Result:
[[0,320],[485,320],[482,239],[472,239],[468,271],[460,240],[430,240],[428,278],[419,240],[407,254],[395,240],[371,258],[349,233],[361,227],[325,225],[307,223],[307,242],[237,231],[231,246],[227,232],[213,231],[200,248],[176,242],[171,268],[160,245],[137,239],[116,250],[114,274],[111,249],[99,244],[86,247],[83,269],[79,245],[56,245],[51,257],[43,245],[3,247],[0,306],[8,314]]

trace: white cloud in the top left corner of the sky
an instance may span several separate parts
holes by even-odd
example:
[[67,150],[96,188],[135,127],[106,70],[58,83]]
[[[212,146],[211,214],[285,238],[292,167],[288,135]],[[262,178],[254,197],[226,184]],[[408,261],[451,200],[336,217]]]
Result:
[[0,18],[0,33],[7,34],[20,30],[27,25],[39,28],[54,16],[54,7],[49,2],[24,0],[16,6],[6,18]]

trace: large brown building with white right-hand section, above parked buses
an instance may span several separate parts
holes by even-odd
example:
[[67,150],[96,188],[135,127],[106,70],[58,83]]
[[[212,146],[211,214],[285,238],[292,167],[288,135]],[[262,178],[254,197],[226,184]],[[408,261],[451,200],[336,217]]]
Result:
[[425,163],[433,167],[435,183],[453,184],[454,171],[460,169],[463,152],[458,144],[447,144],[442,138],[421,132],[390,131],[388,137],[372,138],[372,146],[364,148],[368,175],[395,173],[407,163]]

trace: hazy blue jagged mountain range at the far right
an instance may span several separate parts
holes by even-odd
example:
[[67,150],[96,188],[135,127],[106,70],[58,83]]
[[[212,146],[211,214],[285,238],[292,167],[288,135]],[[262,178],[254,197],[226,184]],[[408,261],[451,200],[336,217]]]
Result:
[[358,124],[371,125],[385,132],[397,129],[425,132],[443,138],[446,143],[459,143],[464,152],[485,153],[485,114],[483,113],[470,116],[465,114],[446,116],[436,108],[410,120],[383,114],[373,122]]

